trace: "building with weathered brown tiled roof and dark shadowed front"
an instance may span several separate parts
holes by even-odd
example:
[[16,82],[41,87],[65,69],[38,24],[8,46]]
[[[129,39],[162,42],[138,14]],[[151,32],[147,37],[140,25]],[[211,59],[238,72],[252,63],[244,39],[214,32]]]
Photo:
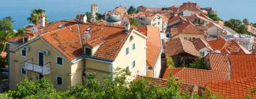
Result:
[[196,50],[193,43],[183,38],[176,38],[165,43],[165,55],[174,60],[174,66],[187,65],[193,62],[196,58],[201,57],[201,54]]

